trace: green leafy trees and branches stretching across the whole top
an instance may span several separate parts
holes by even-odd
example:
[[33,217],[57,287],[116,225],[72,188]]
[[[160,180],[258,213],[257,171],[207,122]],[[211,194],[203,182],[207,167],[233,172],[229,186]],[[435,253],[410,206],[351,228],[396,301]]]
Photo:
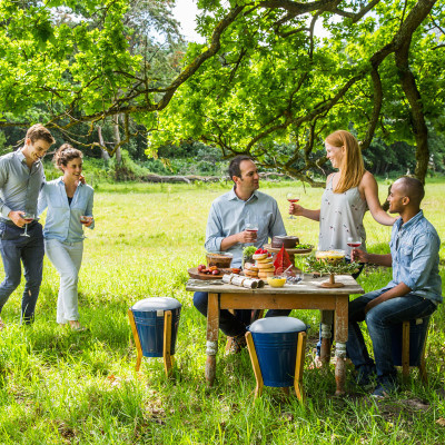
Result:
[[207,43],[181,65],[172,4],[0,1],[0,126],[28,126],[38,105],[69,139],[120,116],[111,152],[144,129],[149,151],[201,140],[308,181],[322,137],[353,128],[364,149],[415,144],[425,177],[428,127],[443,131],[445,0],[199,0]]

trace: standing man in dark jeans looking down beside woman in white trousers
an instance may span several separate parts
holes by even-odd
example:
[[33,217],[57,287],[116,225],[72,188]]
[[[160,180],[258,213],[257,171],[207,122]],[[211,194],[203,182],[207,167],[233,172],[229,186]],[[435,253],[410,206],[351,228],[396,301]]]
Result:
[[[4,267],[4,279],[0,284],[0,313],[9,296],[21,279],[23,264],[24,285],[21,316],[22,322],[33,319],[43,268],[42,227],[37,221],[28,224],[23,215],[37,214],[37,200],[44,184],[41,159],[55,139],[40,123],[32,126],[24,138],[24,146],[0,157],[0,251]],[[3,322],[0,318],[0,329]]]

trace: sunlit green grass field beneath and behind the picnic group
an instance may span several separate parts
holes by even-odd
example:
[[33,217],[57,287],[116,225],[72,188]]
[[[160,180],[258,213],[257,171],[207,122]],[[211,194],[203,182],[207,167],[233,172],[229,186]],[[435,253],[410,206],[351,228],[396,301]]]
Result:
[[[317,222],[287,219],[285,197],[295,187],[303,190],[299,184],[261,182],[261,190],[278,200],[288,234],[316,245]],[[206,324],[185,283],[187,268],[205,259],[210,202],[229,188],[229,184],[97,187],[96,229],[87,230],[79,286],[81,323],[90,330],[73,334],[56,324],[58,277],[46,259],[34,325],[18,325],[22,286],[2,313],[8,328],[0,336],[0,444],[445,443],[444,306],[429,329],[429,386],[423,387],[417,372],[412,372],[415,377],[397,398],[374,403],[352,385],[352,394],[335,398],[334,368],[327,374],[309,369],[309,347],[306,405],[296,397],[281,398],[277,388],[265,388],[254,406],[248,353],[224,357],[222,335],[217,383],[206,389]],[[383,200],[387,185],[379,191]],[[318,208],[322,192],[306,188],[300,204]],[[444,239],[445,181],[427,185],[423,208]],[[368,249],[388,251],[390,228],[370,215],[365,225]],[[445,259],[444,247],[441,258]],[[372,290],[389,279],[390,270],[368,269],[359,283]],[[127,309],[150,296],[182,303],[171,380],[165,378],[161,359],[144,358],[141,372],[134,372]],[[314,339],[318,313],[293,315],[312,325]]]

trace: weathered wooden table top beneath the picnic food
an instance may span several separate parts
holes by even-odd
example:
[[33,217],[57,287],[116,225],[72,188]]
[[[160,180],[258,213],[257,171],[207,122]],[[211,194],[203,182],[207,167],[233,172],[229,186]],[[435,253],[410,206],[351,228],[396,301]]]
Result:
[[186,290],[189,291],[207,291],[212,294],[323,294],[323,295],[350,295],[364,294],[362,286],[350,275],[336,275],[337,283],[344,283],[344,287],[335,289],[319,287],[319,285],[329,279],[329,276],[314,278],[312,274],[305,274],[303,281],[297,285],[285,284],[284,287],[271,287],[268,284],[261,289],[248,289],[241,286],[228,284],[215,285],[206,281],[192,280],[187,283]]

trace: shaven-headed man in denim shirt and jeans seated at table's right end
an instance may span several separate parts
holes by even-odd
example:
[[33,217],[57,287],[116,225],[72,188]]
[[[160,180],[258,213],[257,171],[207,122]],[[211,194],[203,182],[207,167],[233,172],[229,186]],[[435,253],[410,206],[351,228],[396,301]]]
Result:
[[[393,280],[385,288],[349,303],[347,354],[358,370],[358,384],[367,385],[370,374],[377,373],[377,387],[373,393],[376,397],[396,389],[390,326],[426,317],[442,301],[438,275],[441,240],[421,210],[424,196],[424,186],[418,179],[404,177],[396,180],[388,197],[389,212],[400,217],[393,226],[390,254],[353,251],[356,261],[393,266]],[[373,340],[375,363],[368,355],[358,326],[363,320],[366,320]]]

